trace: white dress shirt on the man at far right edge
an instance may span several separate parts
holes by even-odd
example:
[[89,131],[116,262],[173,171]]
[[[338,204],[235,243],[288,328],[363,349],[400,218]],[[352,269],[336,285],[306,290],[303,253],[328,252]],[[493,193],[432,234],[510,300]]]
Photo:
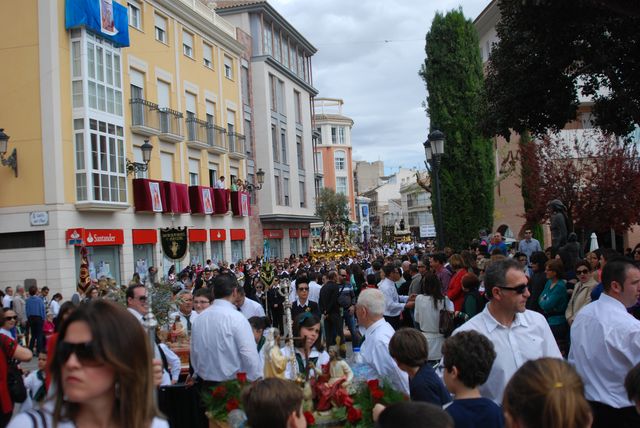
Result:
[[624,378],[640,363],[640,321],[619,300],[602,293],[571,324],[569,363],[582,377],[587,400],[618,409],[633,406]]

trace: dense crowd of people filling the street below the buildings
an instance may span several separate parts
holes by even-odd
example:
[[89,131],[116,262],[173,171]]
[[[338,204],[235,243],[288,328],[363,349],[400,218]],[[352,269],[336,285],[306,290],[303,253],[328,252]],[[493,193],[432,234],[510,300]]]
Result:
[[[161,411],[174,426],[206,426],[199,396],[238,373],[252,382],[242,395],[248,426],[306,426],[302,390],[290,381],[347,354],[410,400],[376,406],[380,427],[640,426],[640,246],[632,257],[581,257],[567,248],[572,239],[543,251],[530,232],[517,249],[496,234],[460,252],[415,246],[171,272],[175,304],[159,336],[171,341],[176,325],[188,336],[186,380],[171,347],[145,334],[139,278],[127,309],[100,293],[74,304],[35,285],[26,299],[24,288],[7,289],[0,426],[160,427]],[[292,347],[282,347],[286,337]],[[34,355],[38,370],[25,381],[34,410],[11,419],[8,374]],[[177,425],[166,400],[160,410],[153,400],[156,387],[176,384],[188,385],[197,414]]]

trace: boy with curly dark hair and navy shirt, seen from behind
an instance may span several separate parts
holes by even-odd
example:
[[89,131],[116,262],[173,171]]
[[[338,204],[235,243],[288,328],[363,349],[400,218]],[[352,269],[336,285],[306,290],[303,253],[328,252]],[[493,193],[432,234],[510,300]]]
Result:
[[500,407],[480,396],[478,387],[487,381],[496,352],[493,343],[476,331],[463,331],[442,346],[444,383],[455,399],[445,410],[456,428],[502,428]]

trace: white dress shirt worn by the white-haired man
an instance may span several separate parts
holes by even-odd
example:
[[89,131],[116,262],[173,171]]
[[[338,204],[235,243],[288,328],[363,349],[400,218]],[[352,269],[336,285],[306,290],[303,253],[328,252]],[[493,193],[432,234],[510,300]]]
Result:
[[400,370],[389,354],[389,341],[394,333],[395,330],[384,318],[371,324],[365,330],[365,340],[360,347],[360,355],[363,361],[375,371],[378,379],[390,382],[395,389],[408,396],[409,377]]

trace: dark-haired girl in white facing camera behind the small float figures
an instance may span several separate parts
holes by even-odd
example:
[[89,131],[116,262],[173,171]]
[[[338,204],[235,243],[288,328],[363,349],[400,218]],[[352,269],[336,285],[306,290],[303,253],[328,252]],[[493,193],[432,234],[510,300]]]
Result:
[[[329,354],[324,350],[322,343],[322,333],[320,329],[320,318],[312,312],[303,312],[293,323],[294,346],[296,350],[296,368],[298,375],[311,378],[321,373],[321,367],[329,363]],[[291,351],[285,346],[282,355],[289,358]],[[285,371],[287,379],[295,380],[291,364],[287,364]]]

